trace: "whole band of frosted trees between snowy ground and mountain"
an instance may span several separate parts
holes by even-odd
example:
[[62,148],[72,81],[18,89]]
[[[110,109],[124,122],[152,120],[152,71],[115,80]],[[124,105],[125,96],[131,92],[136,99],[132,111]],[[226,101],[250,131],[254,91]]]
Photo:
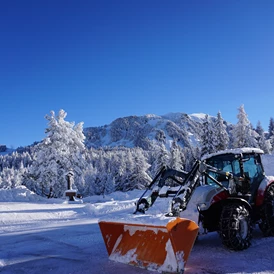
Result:
[[79,194],[106,195],[144,189],[163,166],[188,171],[195,159],[207,153],[237,147],[257,147],[266,154],[273,153],[273,118],[265,132],[260,122],[255,129],[252,127],[243,105],[238,111],[238,122],[230,127],[220,112],[213,120],[206,115],[199,145],[182,147],[174,138],[167,146],[164,136],[155,136],[147,150],[138,146],[87,148],[83,123],[66,121],[64,110],[57,115],[51,111],[45,117],[48,127],[40,143],[21,153],[0,156],[0,188],[24,185],[45,197],[62,197],[67,174],[72,170],[73,188]]

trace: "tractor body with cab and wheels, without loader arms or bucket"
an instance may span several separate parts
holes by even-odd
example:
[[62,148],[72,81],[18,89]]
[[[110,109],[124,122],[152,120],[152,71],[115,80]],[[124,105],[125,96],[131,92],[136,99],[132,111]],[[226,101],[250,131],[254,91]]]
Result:
[[[241,250],[251,244],[252,229],[258,224],[264,236],[274,236],[274,177],[267,177],[262,165],[262,150],[242,148],[220,151],[202,160],[231,177],[209,171],[203,183],[214,188],[215,180],[222,187],[215,194],[208,191],[199,205],[202,226],[218,231],[223,244]],[[212,178],[213,177],[213,178]]]

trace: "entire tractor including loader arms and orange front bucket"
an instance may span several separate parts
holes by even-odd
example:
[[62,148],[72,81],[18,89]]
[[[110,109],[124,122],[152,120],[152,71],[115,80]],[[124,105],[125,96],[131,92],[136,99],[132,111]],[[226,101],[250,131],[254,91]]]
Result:
[[[274,177],[265,176],[262,153],[220,151],[196,160],[189,172],[163,167],[136,202],[134,218],[99,222],[109,258],[183,273],[198,234],[217,231],[231,250],[251,245],[256,224],[264,236],[274,236]],[[154,214],[159,200],[167,200],[167,208]]]

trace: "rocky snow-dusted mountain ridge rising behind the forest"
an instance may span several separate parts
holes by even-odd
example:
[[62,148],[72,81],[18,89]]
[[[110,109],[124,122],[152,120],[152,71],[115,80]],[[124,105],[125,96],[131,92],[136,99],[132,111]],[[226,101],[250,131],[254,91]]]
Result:
[[[148,149],[153,141],[165,141],[168,145],[173,139],[182,147],[196,146],[205,116],[203,113],[168,113],[118,118],[109,125],[85,128],[86,146],[139,146]],[[216,118],[210,116],[209,119]]]

